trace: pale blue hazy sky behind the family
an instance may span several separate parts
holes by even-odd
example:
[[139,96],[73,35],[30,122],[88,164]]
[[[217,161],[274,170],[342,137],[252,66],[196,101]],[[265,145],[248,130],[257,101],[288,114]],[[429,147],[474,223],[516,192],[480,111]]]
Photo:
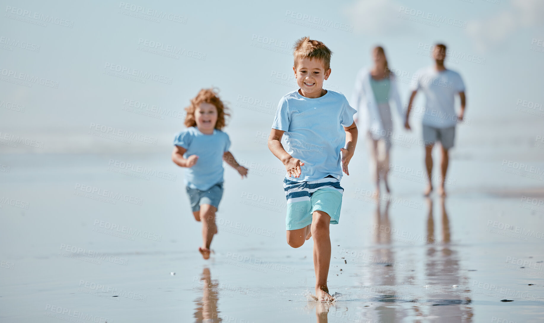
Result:
[[372,47],[384,46],[403,103],[443,42],[446,66],[465,81],[465,116],[481,125],[472,133],[515,123],[512,135],[544,135],[539,0],[0,3],[0,132],[46,147],[1,152],[100,147],[89,134],[97,125],[171,145],[183,108],[210,86],[231,108],[231,136],[268,132],[277,102],[296,89],[292,45],[302,36],[332,50],[325,88],[348,99]]

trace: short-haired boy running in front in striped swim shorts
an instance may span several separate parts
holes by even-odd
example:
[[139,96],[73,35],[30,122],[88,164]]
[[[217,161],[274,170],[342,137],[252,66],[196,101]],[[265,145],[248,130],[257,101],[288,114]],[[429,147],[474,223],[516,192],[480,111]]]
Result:
[[[338,223],[342,170],[349,175],[348,164],[357,143],[355,109],[343,94],[323,89],[323,81],[331,74],[331,54],[323,42],[307,37],[296,42],[293,71],[300,89],[281,98],[268,138],[268,148],[287,170],[283,180],[287,243],[298,248],[310,237],[314,240],[319,301],[334,300],[327,288],[329,224]],[[284,133],[285,148],[281,144]]]

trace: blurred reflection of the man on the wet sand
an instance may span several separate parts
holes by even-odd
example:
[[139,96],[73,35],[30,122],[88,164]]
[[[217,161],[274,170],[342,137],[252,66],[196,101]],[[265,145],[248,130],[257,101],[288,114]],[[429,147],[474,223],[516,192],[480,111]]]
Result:
[[440,198],[442,224],[440,241],[435,239],[433,201],[426,198],[428,248],[425,255],[424,283],[432,290],[428,293],[432,306],[426,316],[440,318],[440,322],[472,322],[471,297],[462,288],[468,278],[460,276],[459,254],[450,245],[451,233],[445,200],[443,197]]

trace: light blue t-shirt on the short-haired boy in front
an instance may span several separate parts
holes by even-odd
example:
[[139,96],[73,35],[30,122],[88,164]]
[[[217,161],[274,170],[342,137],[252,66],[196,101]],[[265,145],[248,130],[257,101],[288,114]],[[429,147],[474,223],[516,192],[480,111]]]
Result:
[[304,97],[298,90],[283,96],[272,128],[285,131],[285,151],[304,162],[300,177],[286,177],[296,182],[317,181],[327,175],[341,179],[343,127],[353,124],[355,113],[343,94],[331,90],[318,98]]

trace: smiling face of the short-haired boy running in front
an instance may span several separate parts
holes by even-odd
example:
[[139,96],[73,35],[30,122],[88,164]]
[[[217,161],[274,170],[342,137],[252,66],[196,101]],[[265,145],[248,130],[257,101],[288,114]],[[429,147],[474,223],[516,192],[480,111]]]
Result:
[[326,94],[323,89],[323,81],[329,78],[331,69],[325,71],[323,61],[320,59],[301,58],[293,71],[296,84],[300,88],[300,94],[308,98],[318,98]]

